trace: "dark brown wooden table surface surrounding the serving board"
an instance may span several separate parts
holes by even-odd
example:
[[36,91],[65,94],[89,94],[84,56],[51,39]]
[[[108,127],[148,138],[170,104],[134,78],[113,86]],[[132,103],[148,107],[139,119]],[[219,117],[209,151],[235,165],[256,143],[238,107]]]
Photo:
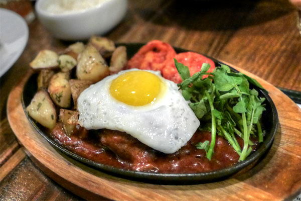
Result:
[[[124,20],[105,36],[116,42],[158,39],[235,64],[271,84],[301,91],[298,13],[288,1],[129,0]],[[6,113],[11,89],[41,49],[63,50],[38,20],[28,44],[1,77],[0,200],[78,200],[46,176],[25,154]]]

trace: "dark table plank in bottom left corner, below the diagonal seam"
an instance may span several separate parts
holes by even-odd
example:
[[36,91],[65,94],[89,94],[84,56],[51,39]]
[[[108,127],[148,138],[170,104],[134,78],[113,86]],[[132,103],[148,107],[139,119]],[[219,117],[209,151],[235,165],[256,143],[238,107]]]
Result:
[[80,200],[41,172],[26,157],[1,181],[0,200]]

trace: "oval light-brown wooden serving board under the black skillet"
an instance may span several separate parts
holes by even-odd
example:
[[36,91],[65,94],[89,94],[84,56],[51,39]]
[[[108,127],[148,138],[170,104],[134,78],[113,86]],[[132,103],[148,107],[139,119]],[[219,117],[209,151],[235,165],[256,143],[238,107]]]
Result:
[[279,127],[265,158],[244,174],[195,185],[159,185],[127,180],[82,164],[58,150],[31,126],[21,104],[32,71],[11,91],[7,114],[26,153],[53,180],[86,199],[113,200],[283,200],[301,187],[301,110],[273,85],[257,79],[277,108]]

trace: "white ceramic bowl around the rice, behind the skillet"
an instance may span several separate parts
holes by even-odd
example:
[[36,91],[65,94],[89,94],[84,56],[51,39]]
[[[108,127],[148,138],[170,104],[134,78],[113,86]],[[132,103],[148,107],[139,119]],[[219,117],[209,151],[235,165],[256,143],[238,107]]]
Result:
[[107,0],[95,8],[72,13],[53,14],[45,6],[52,0],[39,0],[35,5],[38,19],[54,37],[63,40],[84,40],[102,35],[125,16],[127,0]]

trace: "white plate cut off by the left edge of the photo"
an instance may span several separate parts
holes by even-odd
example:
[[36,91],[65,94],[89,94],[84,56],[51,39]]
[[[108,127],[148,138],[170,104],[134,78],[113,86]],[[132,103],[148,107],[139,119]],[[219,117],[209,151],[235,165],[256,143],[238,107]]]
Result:
[[0,76],[22,54],[28,41],[28,26],[25,20],[7,9],[0,9]]

